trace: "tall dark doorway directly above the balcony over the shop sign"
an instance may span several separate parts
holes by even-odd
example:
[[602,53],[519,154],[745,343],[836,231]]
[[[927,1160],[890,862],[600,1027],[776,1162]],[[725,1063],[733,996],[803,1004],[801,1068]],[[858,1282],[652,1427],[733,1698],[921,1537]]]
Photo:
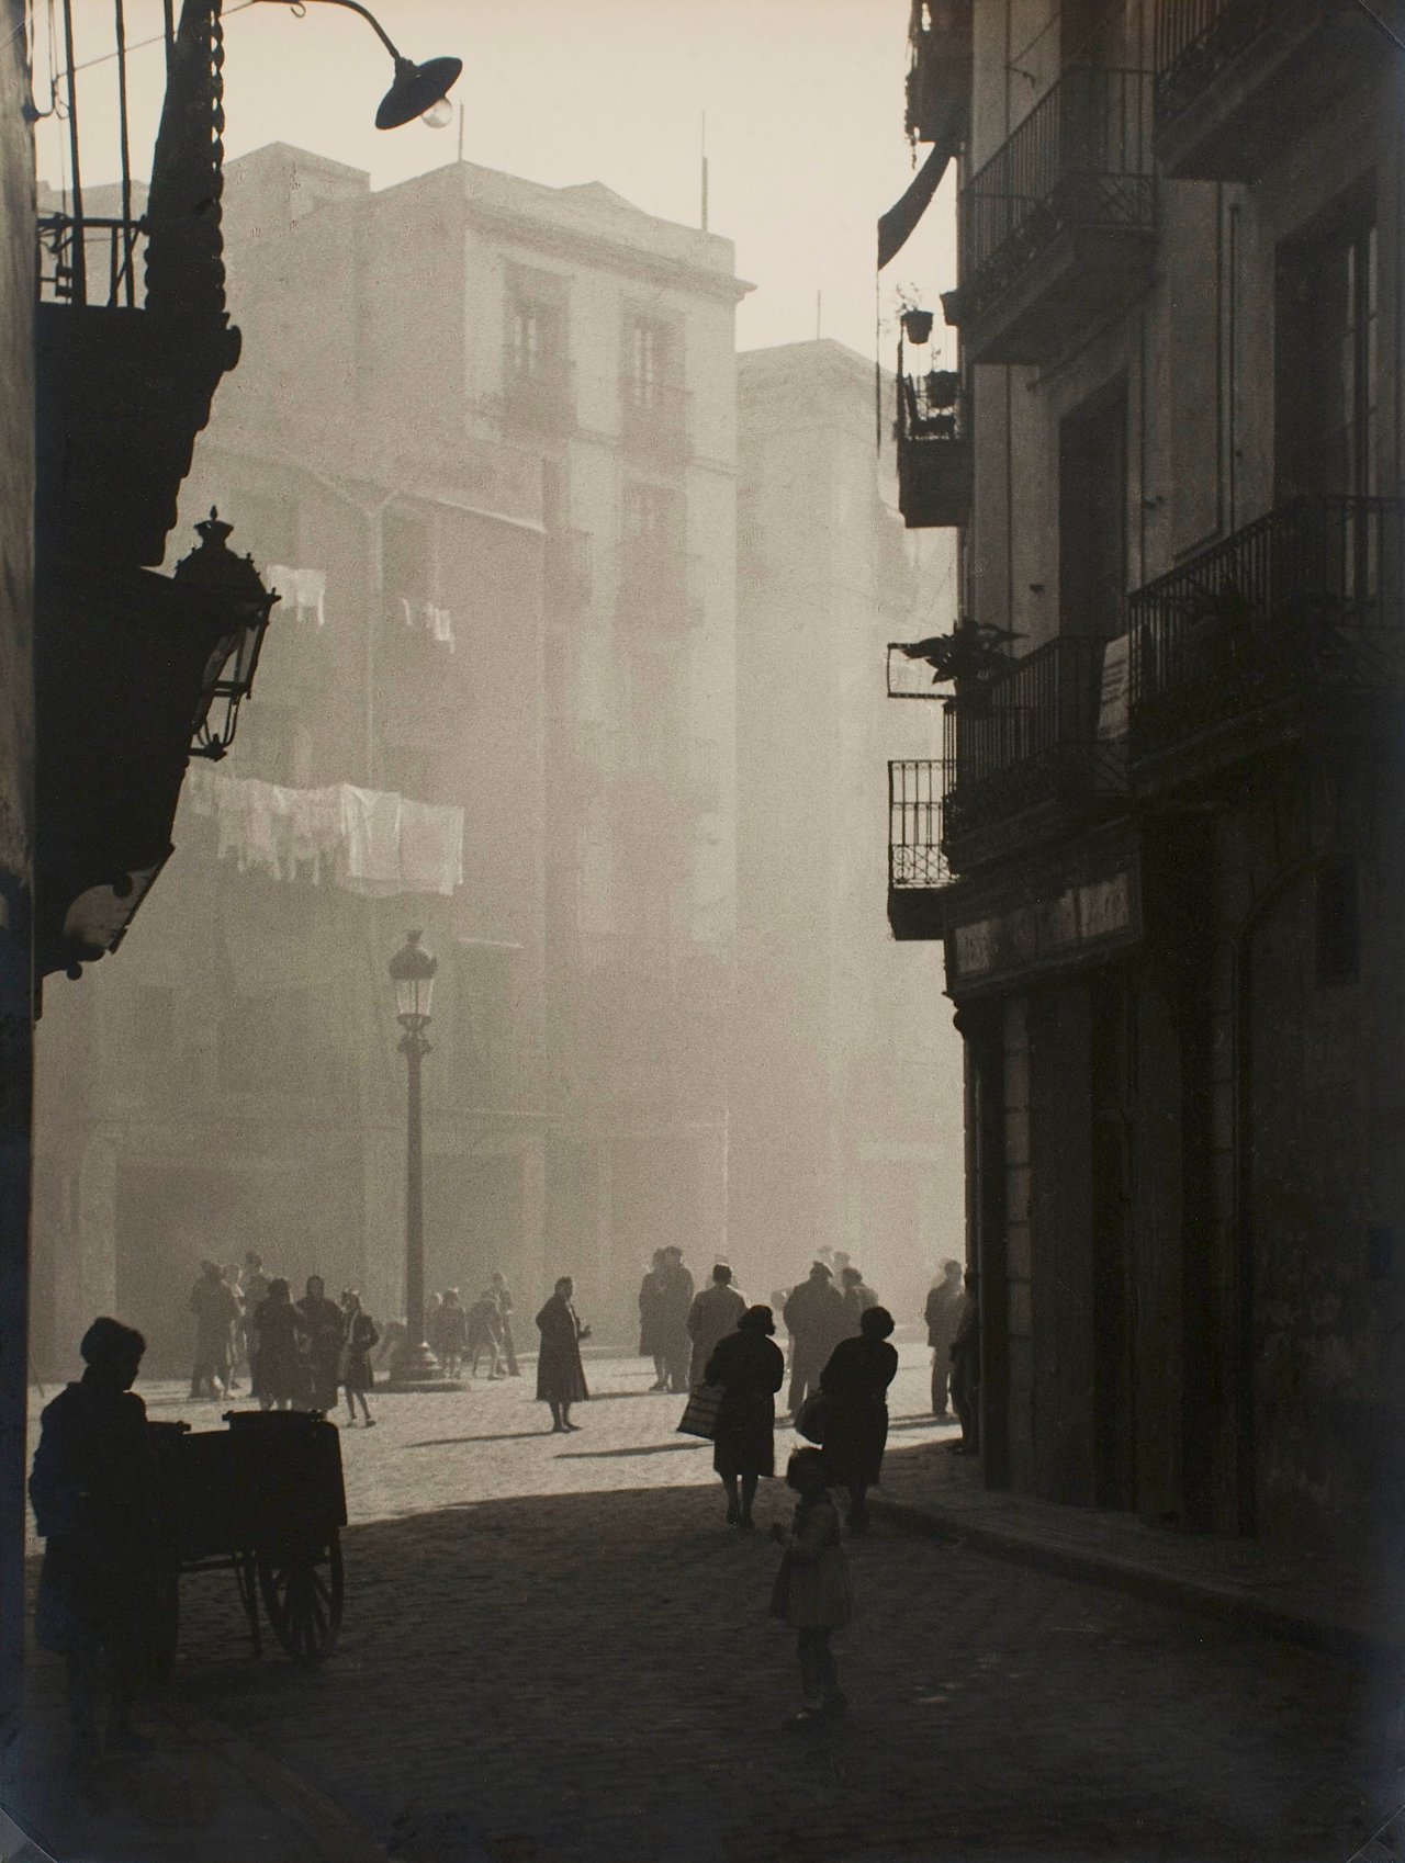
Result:
[[1127,591],[1127,395],[1118,384],[1058,428],[1060,632],[1112,641]]

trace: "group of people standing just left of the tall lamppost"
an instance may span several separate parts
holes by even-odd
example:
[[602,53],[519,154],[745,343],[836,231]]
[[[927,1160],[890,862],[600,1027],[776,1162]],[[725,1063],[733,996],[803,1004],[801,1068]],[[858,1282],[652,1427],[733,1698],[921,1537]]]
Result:
[[321,1274],[309,1274],[300,1300],[281,1274],[268,1276],[250,1248],[242,1269],[201,1263],[190,1295],[196,1315],[192,1397],[225,1397],[240,1390],[239,1367],[248,1367],[250,1392],[265,1410],[311,1408],[332,1416],[347,1395],[348,1421],[375,1423],[367,1392],[375,1386],[371,1349],[380,1328],[361,1306],[356,1287],[334,1300]]

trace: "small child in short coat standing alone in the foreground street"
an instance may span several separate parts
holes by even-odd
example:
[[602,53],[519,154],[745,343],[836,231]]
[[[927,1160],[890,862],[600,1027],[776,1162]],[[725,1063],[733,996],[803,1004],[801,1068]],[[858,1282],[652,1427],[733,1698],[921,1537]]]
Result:
[[796,1449],[786,1485],[799,1496],[790,1530],[777,1524],[771,1537],[784,1546],[771,1591],[771,1615],[796,1630],[799,1679],[805,1693],[788,1727],[807,1727],[842,1714],[848,1699],[839,1686],[829,1638],[853,1617],[850,1569],[839,1543],[839,1513],[825,1487],[824,1455]]

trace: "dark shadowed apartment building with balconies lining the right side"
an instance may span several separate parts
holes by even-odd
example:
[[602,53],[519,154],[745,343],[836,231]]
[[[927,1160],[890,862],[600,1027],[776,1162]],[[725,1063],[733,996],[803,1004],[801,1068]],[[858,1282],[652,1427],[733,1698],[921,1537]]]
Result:
[[1403,84],[1353,4],[913,15],[962,369],[909,343],[900,471],[967,635],[889,911],[965,1040],[986,1479],[1353,1548],[1405,1507]]

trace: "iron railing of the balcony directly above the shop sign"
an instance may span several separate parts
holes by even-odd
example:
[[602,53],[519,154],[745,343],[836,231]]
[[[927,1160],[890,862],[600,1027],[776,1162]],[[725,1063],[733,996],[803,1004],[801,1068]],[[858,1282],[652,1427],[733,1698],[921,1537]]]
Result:
[[947,835],[1092,790],[1103,654],[1099,639],[1060,635],[950,700],[943,721]]

